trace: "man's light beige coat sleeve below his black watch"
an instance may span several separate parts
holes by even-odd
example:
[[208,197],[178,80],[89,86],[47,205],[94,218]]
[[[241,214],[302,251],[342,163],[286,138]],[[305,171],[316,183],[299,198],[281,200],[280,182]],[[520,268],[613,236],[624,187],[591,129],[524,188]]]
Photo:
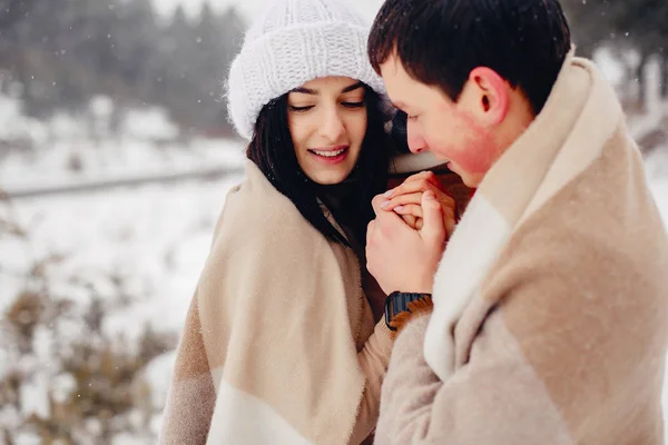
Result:
[[[560,413],[498,312],[477,337],[470,362],[446,383],[424,360],[429,319],[412,319],[396,338],[376,443],[573,445]],[[550,354],[554,347],[543,349]]]

